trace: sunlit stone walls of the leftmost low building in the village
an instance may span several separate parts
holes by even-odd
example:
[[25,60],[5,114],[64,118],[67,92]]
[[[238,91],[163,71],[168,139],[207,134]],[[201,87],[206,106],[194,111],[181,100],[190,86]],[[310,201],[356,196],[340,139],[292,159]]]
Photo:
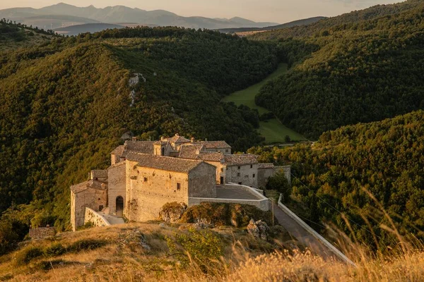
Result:
[[107,207],[107,190],[88,188],[74,194],[71,192],[71,224],[73,231],[84,225],[86,207],[98,212]]

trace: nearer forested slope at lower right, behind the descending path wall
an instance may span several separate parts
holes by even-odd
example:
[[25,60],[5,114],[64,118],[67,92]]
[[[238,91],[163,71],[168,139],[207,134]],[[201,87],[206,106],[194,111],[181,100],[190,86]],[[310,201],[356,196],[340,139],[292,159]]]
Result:
[[292,164],[292,198],[305,205],[308,222],[333,223],[380,250],[398,240],[389,231],[395,227],[424,238],[424,111],[329,131],[312,147],[249,152]]

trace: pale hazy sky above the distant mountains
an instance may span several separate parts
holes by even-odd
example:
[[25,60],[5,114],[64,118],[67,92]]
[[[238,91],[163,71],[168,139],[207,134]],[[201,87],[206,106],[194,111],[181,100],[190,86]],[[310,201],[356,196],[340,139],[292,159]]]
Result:
[[377,4],[399,0],[0,0],[0,9],[13,7],[41,8],[63,1],[74,6],[97,8],[123,5],[143,10],[163,9],[180,16],[232,18],[240,16],[256,21],[287,23],[313,16],[337,16]]

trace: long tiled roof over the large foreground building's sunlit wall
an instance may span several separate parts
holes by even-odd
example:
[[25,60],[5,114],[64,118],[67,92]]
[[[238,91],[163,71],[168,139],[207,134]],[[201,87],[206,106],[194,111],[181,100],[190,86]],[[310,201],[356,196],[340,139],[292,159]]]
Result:
[[203,163],[203,161],[199,160],[162,157],[151,154],[138,154],[134,152],[129,152],[126,159],[129,161],[137,161],[137,166],[181,173],[189,173],[193,168],[196,168],[196,166]]

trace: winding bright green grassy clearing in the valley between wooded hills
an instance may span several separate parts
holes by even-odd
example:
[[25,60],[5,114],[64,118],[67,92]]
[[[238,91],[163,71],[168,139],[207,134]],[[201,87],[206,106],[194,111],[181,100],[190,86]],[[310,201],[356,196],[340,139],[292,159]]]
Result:
[[[269,111],[261,106],[254,104],[254,97],[259,93],[261,87],[273,80],[278,78],[278,76],[283,75],[287,71],[287,64],[281,63],[277,70],[271,73],[267,78],[261,82],[252,85],[251,87],[246,88],[245,90],[234,92],[223,99],[223,102],[234,102],[237,106],[244,104],[249,106],[250,109],[257,109],[259,114],[265,114]],[[267,122],[261,122],[259,127],[259,133],[265,137],[267,143],[278,143],[285,142],[285,136],[290,136],[291,140],[306,140],[305,137],[296,133],[295,131],[287,128],[285,125],[281,124],[276,118],[273,118]]]

